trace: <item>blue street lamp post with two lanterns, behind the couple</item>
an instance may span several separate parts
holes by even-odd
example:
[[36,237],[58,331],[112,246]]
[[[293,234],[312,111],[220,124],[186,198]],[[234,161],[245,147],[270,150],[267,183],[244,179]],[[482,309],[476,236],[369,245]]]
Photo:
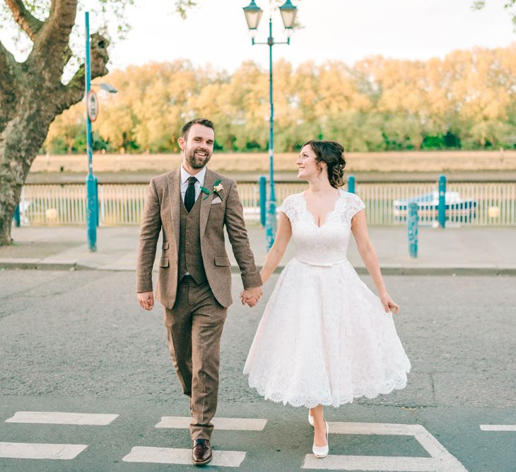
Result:
[[[262,18],[262,8],[259,8],[254,0],[248,6],[243,8],[247,27],[252,34],[252,45],[268,45],[269,46],[269,100],[271,105],[271,116],[269,119],[269,199],[267,199],[267,217],[265,223],[266,248],[271,249],[274,244],[274,235],[276,233],[276,194],[274,192],[274,102],[272,100],[272,47],[274,45],[290,45],[291,38],[287,37],[286,42],[274,42],[272,37],[272,7],[269,0],[269,37],[266,42],[255,42],[254,35]],[[286,0],[285,4],[279,7],[283,26],[286,30],[291,31],[295,23],[295,15],[298,8],[294,6],[291,0]]]

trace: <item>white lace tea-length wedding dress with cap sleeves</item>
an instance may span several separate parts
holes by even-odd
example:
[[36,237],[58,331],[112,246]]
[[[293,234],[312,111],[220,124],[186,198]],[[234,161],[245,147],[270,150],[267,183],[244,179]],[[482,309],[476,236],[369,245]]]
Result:
[[265,399],[339,406],[406,386],[411,365],[392,314],[346,259],[351,218],[363,208],[340,190],[318,227],[303,193],[283,201],[297,254],[278,278],[244,367]]

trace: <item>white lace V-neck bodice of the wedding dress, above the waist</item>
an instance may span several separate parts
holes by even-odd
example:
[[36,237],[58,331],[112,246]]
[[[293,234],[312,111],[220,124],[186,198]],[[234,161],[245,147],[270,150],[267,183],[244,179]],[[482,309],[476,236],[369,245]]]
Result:
[[351,218],[365,208],[355,194],[339,190],[340,196],[324,223],[319,227],[307,209],[303,192],[288,196],[280,211],[288,216],[292,237],[300,261],[314,265],[333,265],[346,260]]

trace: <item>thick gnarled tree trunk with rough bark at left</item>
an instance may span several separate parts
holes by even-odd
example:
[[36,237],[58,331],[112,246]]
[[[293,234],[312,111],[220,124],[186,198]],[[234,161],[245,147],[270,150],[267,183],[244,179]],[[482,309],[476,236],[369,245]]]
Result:
[[[11,244],[21,189],[50,124],[84,95],[83,66],[68,85],[61,83],[70,57],[76,0],[53,0],[45,23],[30,16],[20,0],[7,0],[7,4],[35,44],[27,61],[19,64],[0,43],[0,246]],[[91,76],[104,76],[109,42],[95,33],[90,43]]]

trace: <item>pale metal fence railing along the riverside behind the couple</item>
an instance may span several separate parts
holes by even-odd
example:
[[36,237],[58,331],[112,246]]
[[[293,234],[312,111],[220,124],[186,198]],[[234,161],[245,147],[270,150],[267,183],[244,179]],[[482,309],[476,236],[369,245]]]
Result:
[[[146,184],[99,184],[99,224],[139,225]],[[277,182],[276,200],[303,191],[303,182]],[[436,182],[356,184],[369,225],[405,225],[407,202],[418,199],[419,224],[437,224]],[[242,182],[238,192],[245,218],[259,223],[259,184]],[[448,201],[448,196],[450,200]],[[423,201],[423,203],[421,203]],[[447,225],[516,225],[516,182],[471,182],[447,185]],[[28,184],[20,201],[22,225],[82,225],[86,223],[86,186]]]

